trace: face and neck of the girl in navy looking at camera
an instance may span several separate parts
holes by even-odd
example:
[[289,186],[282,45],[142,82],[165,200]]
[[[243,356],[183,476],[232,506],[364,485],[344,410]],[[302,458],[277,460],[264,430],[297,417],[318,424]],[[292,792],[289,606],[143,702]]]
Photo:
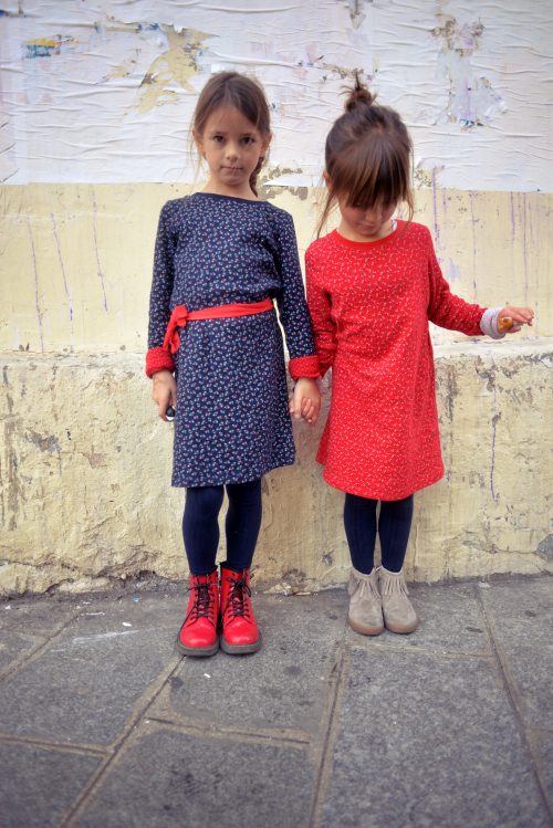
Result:
[[204,133],[194,140],[209,167],[205,192],[254,199],[250,176],[264,156],[271,135],[262,135],[233,106],[220,106],[208,117]]

